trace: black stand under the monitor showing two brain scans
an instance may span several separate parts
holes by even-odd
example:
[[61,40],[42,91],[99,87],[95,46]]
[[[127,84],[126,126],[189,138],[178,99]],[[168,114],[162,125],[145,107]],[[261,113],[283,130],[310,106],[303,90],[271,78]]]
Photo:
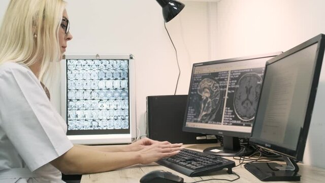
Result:
[[223,136],[223,147],[208,147],[204,153],[216,156],[249,156],[253,153],[251,148],[245,148],[245,152],[240,146],[238,137]]

